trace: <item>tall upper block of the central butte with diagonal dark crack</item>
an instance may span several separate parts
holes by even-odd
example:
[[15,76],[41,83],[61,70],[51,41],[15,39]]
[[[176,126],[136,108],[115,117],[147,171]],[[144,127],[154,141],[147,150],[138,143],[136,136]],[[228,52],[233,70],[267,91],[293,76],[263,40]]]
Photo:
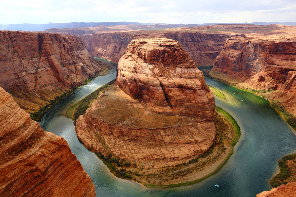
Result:
[[150,110],[213,120],[215,98],[202,72],[176,40],[133,40],[118,62],[116,83]]

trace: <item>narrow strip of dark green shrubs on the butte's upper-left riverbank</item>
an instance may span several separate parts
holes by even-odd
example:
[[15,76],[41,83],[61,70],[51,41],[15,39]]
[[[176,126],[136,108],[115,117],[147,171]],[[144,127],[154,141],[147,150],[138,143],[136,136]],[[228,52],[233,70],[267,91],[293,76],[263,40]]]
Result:
[[115,79],[113,79],[113,80],[110,81],[109,83],[103,85],[102,87],[96,89],[96,90],[95,90],[94,92],[92,92],[90,95],[88,95],[87,97],[85,97],[85,98],[80,102],[80,104],[79,104],[78,106],[75,106],[75,107],[77,107],[77,108],[76,108],[76,111],[75,111],[75,113],[74,113],[74,115],[73,115],[73,118],[72,118],[72,119],[74,120],[74,123],[75,123],[75,121],[77,120],[77,118],[78,118],[80,115],[82,115],[82,114],[84,114],[84,113],[86,112],[87,108],[90,107],[91,102],[92,102],[94,99],[99,98],[99,96],[100,96],[100,92],[101,92],[103,89],[105,89],[105,88],[111,86],[111,85],[114,84],[114,83],[115,83]]

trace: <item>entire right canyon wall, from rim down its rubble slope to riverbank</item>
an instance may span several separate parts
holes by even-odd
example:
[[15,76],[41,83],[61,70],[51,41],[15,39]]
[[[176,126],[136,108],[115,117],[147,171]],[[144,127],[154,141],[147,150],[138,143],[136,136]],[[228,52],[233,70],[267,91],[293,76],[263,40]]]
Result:
[[239,86],[259,90],[272,100],[284,102],[296,115],[296,36],[229,38],[215,60],[214,71],[229,75]]

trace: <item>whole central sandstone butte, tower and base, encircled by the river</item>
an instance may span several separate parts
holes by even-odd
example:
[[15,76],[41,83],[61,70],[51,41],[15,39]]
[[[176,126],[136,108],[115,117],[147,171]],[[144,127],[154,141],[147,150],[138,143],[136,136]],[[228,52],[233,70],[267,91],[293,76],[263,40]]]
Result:
[[215,139],[215,99],[203,75],[175,40],[133,40],[109,87],[76,121],[94,152],[172,166],[205,153]]

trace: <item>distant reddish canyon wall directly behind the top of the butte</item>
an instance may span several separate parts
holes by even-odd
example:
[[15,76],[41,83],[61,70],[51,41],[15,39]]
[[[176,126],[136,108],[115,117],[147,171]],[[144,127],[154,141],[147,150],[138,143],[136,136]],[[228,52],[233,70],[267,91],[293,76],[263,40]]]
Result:
[[196,66],[213,65],[216,56],[220,53],[225,40],[231,37],[227,34],[210,34],[200,32],[112,32],[80,35],[86,43],[86,48],[92,56],[106,58],[118,63],[125,53],[127,45],[133,39],[168,38],[177,40],[181,47],[190,55]]

